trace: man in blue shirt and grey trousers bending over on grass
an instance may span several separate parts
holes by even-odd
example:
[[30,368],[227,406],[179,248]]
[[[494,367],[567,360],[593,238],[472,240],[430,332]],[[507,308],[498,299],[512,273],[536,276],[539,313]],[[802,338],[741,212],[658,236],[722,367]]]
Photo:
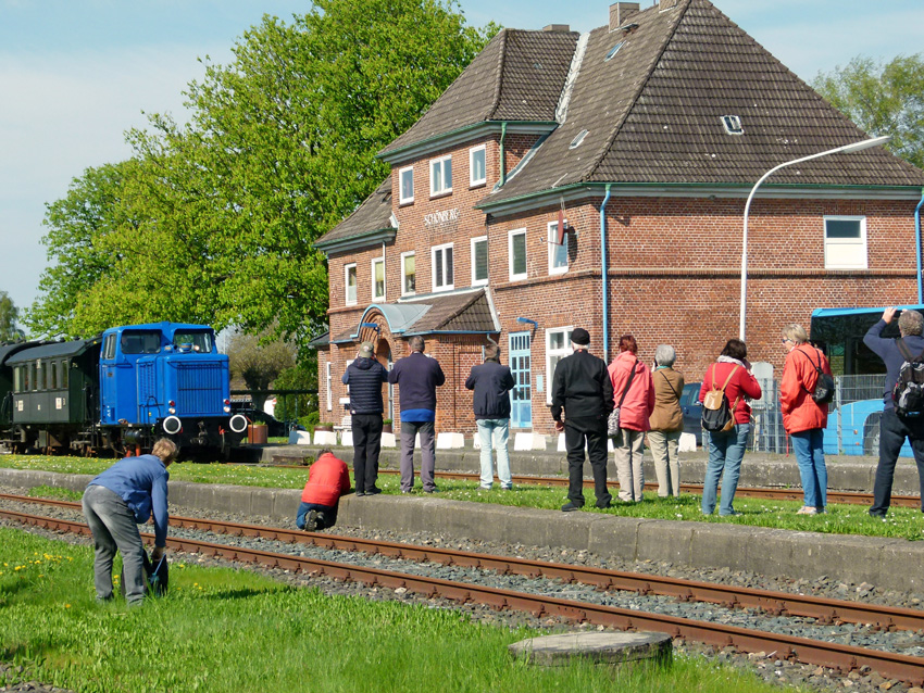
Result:
[[96,557],[93,583],[97,598],[112,598],[112,562],[122,552],[125,598],[140,604],[145,598],[145,545],[138,525],[147,522],[153,512],[157,563],[166,546],[167,502],[166,468],[176,457],[176,445],[161,438],[150,455],[120,459],[96,477],[84,491],[84,515],[93,533]]

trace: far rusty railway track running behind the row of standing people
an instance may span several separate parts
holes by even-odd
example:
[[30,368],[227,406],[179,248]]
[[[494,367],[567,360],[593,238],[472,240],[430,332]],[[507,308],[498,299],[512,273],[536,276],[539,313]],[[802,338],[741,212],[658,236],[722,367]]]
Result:
[[[273,465],[274,467],[285,467],[288,469],[305,469],[303,465]],[[379,469],[379,475],[388,475],[388,476],[397,476],[400,474],[397,469]],[[480,475],[465,471],[437,471],[434,475],[437,479],[449,479],[455,481],[472,481],[473,483],[478,483],[480,480]],[[513,482],[519,484],[529,484],[529,486],[551,486],[551,487],[566,487],[567,479],[564,477],[529,477],[529,476],[513,476]],[[619,482],[615,480],[610,481],[610,486],[614,488],[619,488]],[[592,479],[585,479],[584,487],[587,489],[594,488]],[[653,481],[646,482],[645,484],[646,491],[657,491],[658,483]],[[702,484],[701,483],[682,483],[680,491],[683,493],[690,493],[692,495],[702,495]],[[770,489],[770,488],[748,488],[748,487],[738,487],[735,491],[735,497],[751,497],[751,499],[770,499],[773,501],[801,501],[802,489],[790,488],[790,489]],[[828,491],[827,492],[827,502],[828,503],[838,503],[845,505],[872,505],[873,504],[873,494],[872,493],[861,493],[859,491]],[[894,495],[891,496],[891,505],[895,507],[920,507],[921,499],[916,495]]]

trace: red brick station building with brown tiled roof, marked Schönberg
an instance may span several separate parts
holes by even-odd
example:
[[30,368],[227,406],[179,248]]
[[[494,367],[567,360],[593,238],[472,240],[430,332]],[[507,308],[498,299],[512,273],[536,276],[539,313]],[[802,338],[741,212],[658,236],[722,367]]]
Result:
[[[514,429],[551,430],[549,386],[574,327],[608,361],[624,333],[646,361],[673,344],[699,380],[738,333],[751,187],[866,137],[708,0],[617,2],[584,35],[502,30],[379,152],[391,175],[316,243],[330,292],[322,418],[345,414],[340,376],[360,341],[387,362],[411,335],[447,375],[437,430],[474,430],[462,383],[488,338],[517,379]],[[763,185],[748,240],[752,361],[782,367],[781,327],[808,326],[815,307],[916,300],[922,186],[924,172],[882,148]]]

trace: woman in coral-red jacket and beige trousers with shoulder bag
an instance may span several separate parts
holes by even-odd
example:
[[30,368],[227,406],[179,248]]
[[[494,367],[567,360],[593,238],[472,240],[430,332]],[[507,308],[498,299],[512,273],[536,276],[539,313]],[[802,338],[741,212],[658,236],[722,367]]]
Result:
[[[635,337],[624,335],[620,338],[620,355],[613,358],[608,368],[613,383],[613,405],[620,407],[620,434],[613,442],[616,475],[620,479],[620,500],[628,503],[641,501],[641,490],[645,487],[642,440],[645,431],[649,430],[648,418],[654,410],[651,370],[638,360],[637,354],[638,344]],[[633,371],[635,375],[629,382]]]

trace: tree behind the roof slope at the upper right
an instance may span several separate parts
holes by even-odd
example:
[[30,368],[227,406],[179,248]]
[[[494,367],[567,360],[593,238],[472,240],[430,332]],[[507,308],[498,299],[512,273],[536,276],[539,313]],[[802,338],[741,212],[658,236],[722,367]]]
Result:
[[884,63],[858,56],[819,73],[812,86],[863,130],[891,137],[886,148],[924,168],[924,53]]

